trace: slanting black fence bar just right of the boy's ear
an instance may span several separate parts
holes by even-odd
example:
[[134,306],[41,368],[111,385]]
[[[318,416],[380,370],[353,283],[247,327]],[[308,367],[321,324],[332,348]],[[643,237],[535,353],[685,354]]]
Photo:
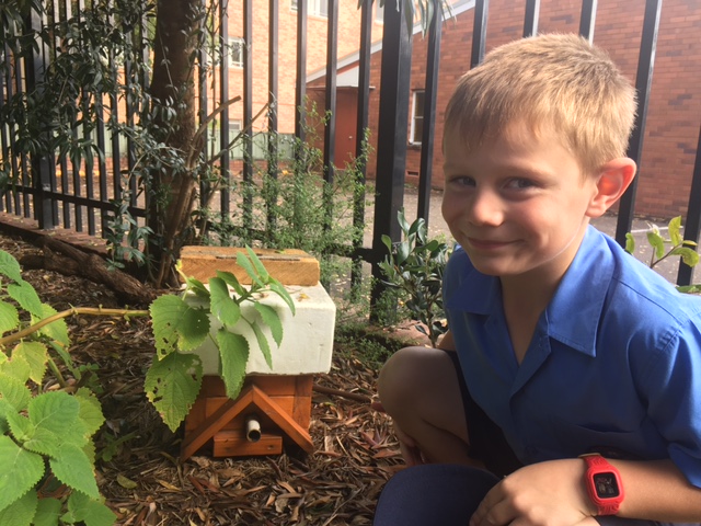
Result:
[[[662,0],[647,0],[645,2],[645,18],[643,20],[643,36],[640,44],[640,57],[637,59],[637,75],[635,76],[635,90],[637,91],[637,115],[635,127],[628,146],[628,157],[633,159],[639,167],[643,152],[643,138],[645,136],[645,123],[647,119],[647,105],[650,102],[650,88],[653,83],[653,69],[655,66],[655,49],[657,47],[657,32],[659,30],[659,16],[662,13]],[[633,225],[633,207],[635,193],[637,192],[637,178],[628,187],[621,197],[618,221],[616,224],[616,240],[625,247],[625,233]]]

